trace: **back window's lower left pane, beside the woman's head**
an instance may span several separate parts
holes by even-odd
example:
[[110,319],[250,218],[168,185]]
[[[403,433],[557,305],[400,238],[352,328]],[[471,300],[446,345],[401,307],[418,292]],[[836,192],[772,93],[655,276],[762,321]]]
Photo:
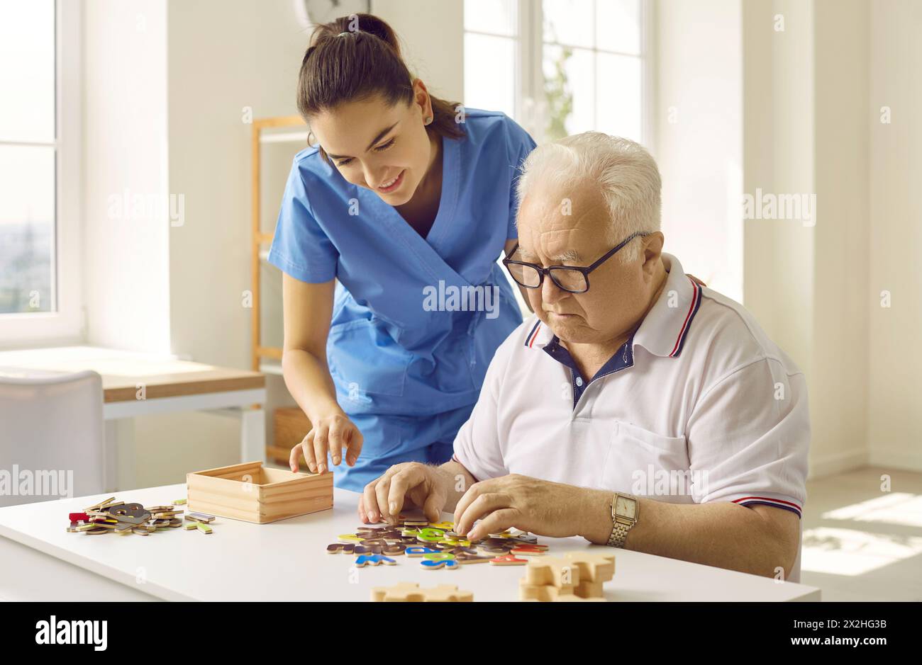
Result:
[[464,103],[474,109],[515,115],[515,40],[464,36]]

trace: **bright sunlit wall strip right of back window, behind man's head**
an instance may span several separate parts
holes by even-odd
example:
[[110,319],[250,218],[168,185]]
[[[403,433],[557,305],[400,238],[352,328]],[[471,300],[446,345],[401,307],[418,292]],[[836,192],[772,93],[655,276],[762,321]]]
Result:
[[742,300],[740,0],[656,3],[655,155],[666,251]]

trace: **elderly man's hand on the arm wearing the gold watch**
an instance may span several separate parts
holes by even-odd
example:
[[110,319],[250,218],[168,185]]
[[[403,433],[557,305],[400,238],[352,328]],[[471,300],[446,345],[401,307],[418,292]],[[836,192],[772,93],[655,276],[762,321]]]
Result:
[[585,490],[580,487],[504,475],[470,486],[455,507],[455,532],[470,531],[470,540],[511,527],[552,538],[575,536],[582,530],[584,503]]

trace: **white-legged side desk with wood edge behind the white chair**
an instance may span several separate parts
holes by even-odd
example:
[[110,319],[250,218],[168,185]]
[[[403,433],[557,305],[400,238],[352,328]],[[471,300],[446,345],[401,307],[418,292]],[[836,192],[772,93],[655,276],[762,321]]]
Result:
[[[105,487],[135,486],[136,415],[208,411],[239,418],[241,461],[265,461],[266,377],[230,367],[96,346],[0,352],[0,376],[37,377],[91,369],[102,378]],[[143,387],[144,399],[137,399]]]

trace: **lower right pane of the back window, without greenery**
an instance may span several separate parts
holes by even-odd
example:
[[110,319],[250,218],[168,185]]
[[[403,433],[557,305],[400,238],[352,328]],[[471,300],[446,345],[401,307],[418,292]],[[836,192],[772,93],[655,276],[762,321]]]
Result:
[[641,60],[597,53],[596,129],[642,143]]

